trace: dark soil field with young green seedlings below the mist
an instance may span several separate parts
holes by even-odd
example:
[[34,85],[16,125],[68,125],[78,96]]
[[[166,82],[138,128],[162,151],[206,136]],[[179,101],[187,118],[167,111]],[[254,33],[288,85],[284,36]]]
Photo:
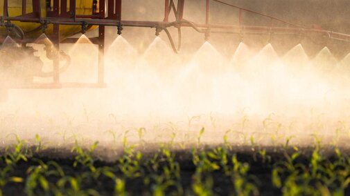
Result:
[[[142,130],[139,130],[142,133]],[[314,135],[304,148],[284,144],[202,144],[200,130],[189,148],[174,138],[162,144],[128,144],[114,161],[76,140],[70,157],[16,137],[0,159],[0,195],[349,195],[350,157],[337,144]],[[100,149],[103,150],[103,149]],[[50,157],[51,156],[51,157]]]

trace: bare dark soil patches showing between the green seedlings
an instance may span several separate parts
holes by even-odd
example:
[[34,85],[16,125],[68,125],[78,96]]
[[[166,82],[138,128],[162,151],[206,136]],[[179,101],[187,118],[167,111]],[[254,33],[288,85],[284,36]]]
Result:
[[[212,147],[204,146],[203,149],[209,149]],[[270,157],[270,161],[263,161],[260,155],[256,153],[256,151],[252,150],[250,146],[240,146],[231,150],[229,155],[236,154],[237,159],[240,162],[246,162],[250,164],[249,175],[253,175],[258,179],[257,186],[259,188],[260,195],[281,195],[282,192],[279,188],[275,188],[272,185],[271,173],[272,167],[278,161],[285,160],[284,153],[286,152],[282,148],[277,147],[266,147],[267,155]],[[308,164],[310,162],[310,155],[313,152],[314,148],[301,148],[301,156],[297,158],[297,162],[301,164]],[[50,154],[51,156],[47,156]],[[45,153],[34,155],[33,158],[28,159],[28,161],[19,161],[16,166],[16,170],[12,173],[13,176],[18,176],[26,179],[26,172],[30,166],[37,166],[37,162],[34,161],[34,158],[41,159],[44,163],[48,161],[56,161],[63,168],[64,173],[70,176],[80,175],[84,171],[83,168],[73,167],[73,154],[71,157],[62,157],[53,154],[55,151],[46,150]],[[191,184],[193,182],[193,175],[195,174],[195,165],[191,159],[191,150],[175,150],[175,162],[180,164],[180,176],[182,187],[184,188],[184,193],[191,194]],[[288,154],[292,152],[292,148],[289,149]],[[336,157],[334,153],[332,153],[332,148],[324,148],[323,155],[329,159],[330,161],[335,160]],[[143,159],[146,161],[152,155],[155,154],[155,151],[149,151],[148,153],[143,154]],[[50,158],[48,158],[50,157]],[[113,167],[116,166],[117,161],[95,161],[94,166],[96,168],[108,166]],[[0,168],[3,168],[3,164],[0,164]],[[119,174],[121,175],[121,174]],[[231,195],[234,193],[234,187],[232,185],[231,179],[225,176],[222,172],[214,171],[210,174],[213,180],[213,192],[217,195]],[[57,179],[51,178],[49,181],[55,182]],[[10,183],[7,184],[5,188],[3,188],[3,195],[26,195],[24,192],[25,184],[24,183]],[[97,190],[100,195],[113,195],[114,193],[114,182],[106,177],[99,177],[98,180],[88,180],[83,182],[82,189],[84,188],[94,188]],[[135,179],[128,179],[126,181],[126,190],[130,193],[130,195],[151,195],[150,190],[152,190],[151,186],[145,186],[143,184],[143,179],[141,177],[137,177]],[[188,195],[188,194],[187,194]],[[350,188],[347,188],[345,195],[350,195]]]

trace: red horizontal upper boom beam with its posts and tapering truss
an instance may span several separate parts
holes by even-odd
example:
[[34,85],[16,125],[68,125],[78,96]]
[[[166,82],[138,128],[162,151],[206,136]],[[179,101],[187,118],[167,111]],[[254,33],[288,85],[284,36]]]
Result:
[[[164,8],[164,20],[163,21],[123,21],[121,20],[121,0],[100,0],[99,7],[100,12],[98,14],[91,14],[91,15],[76,15],[75,9],[76,9],[76,1],[71,0],[70,2],[70,9],[67,10],[67,0],[53,0],[53,10],[47,12],[47,17],[42,17],[40,13],[40,0],[31,0],[33,1],[33,12],[26,13],[26,1],[22,0],[22,4],[24,5],[22,9],[22,14],[15,17],[8,16],[7,12],[7,5],[8,0],[4,0],[4,14],[0,17],[1,21],[22,21],[22,22],[36,22],[36,23],[43,23],[46,22],[47,24],[58,24],[58,25],[82,25],[82,23],[87,23],[89,25],[96,25],[96,26],[137,26],[137,27],[148,27],[148,28],[168,28],[170,26],[181,26],[181,27],[191,27],[195,26],[197,28],[214,28],[218,30],[225,30],[224,32],[227,32],[227,29],[231,29],[232,32],[236,32],[236,30],[244,30],[244,31],[259,31],[261,30],[262,33],[265,33],[266,28],[274,28],[273,30],[277,31],[292,31],[295,30],[303,31],[303,32],[322,32],[324,34],[331,34],[332,36],[338,36],[338,38],[344,38],[344,41],[349,41],[350,35],[341,34],[337,32],[331,32],[328,30],[320,30],[320,29],[314,29],[314,28],[305,28],[299,24],[290,23],[288,21],[284,21],[282,19],[278,19],[276,17],[272,17],[268,14],[263,14],[261,12],[255,12],[252,10],[247,10],[245,8],[240,8],[238,6],[231,5],[229,3],[225,3],[224,1],[220,0],[204,0],[207,1],[206,6],[206,19],[205,23],[198,24],[198,23],[191,23],[189,25],[188,21],[184,21],[184,5],[185,0],[179,0],[177,3],[177,8],[175,6],[172,6],[170,3],[174,3],[171,0],[164,0],[165,1],[165,8]],[[28,0],[29,1],[29,0]],[[105,8],[105,2],[108,2],[109,5],[107,8]],[[116,3],[114,3],[114,1]],[[225,6],[231,6],[232,8],[236,8],[239,10],[238,14],[238,25],[220,25],[220,24],[211,24],[209,23],[209,1],[216,1],[218,3],[221,3]],[[59,6],[61,2],[61,5]],[[60,10],[60,11],[59,11]],[[105,17],[105,10],[107,10],[107,17]],[[170,14],[171,10],[175,12],[176,15],[176,21],[175,22],[169,22],[168,21],[168,15]],[[258,14],[261,17],[267,17],[270,19],[271,23],[270,26],[244,26],[243,25],[243,12],[251,12],[254,14]],[[279,21],[281,23],[286,24],[285,27],[277,27],[274,26],[274,21]],[[204,31],[203,31],[204,32]]]

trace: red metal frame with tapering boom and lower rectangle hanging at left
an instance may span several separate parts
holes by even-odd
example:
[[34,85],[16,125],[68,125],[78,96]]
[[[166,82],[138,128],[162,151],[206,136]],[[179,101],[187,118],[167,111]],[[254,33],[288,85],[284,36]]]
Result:
[[[26,13],[26,1],[33,1],[33,12]],[[0,17],[0,25],[6,26],[10,21],[22,21],[22,22],[35,22],[42,24],[53,24],[53,35],[50,37],[51,41],[55,44],[55,47],[59,51],[60,48],[60,25],[81,25],[81,26],[99,26],[98,37],[91,38],[93,43],[98,44],[99,59],[98,59],[98,81],[96,84],[62,84],[60,82],[60,68],[59,57],[56,55],[54,59],[54,75],[53,84],[33,84],[33,88],[95,88],[104,87],[104,48],[105,48],[105,26],[116,26],[121,33],[122,26],[130,27],[145,27],[156,28],[157,33],[164,30],[170,39],[170,43],[173,46],[175,52],[180,47],[176,48],[173,43],[173,39],[168,32],[167,28],[175,27],[179,29],[179,35],[181,34],[182,27],[194,28],[200,33],[204,33],[206,39],[210,33],[232,33],[242,35],[244,34],[292,34],[292,35],[307,35],[308,33],[319,33],[329,39],[335,39],[340,41],[350,41],[350,35],[342,34],[338,32],[332,32],[328,30],[320,30],[315,28],[305,28],[299,24],[290,23],[276,17],[272,17],[268,14],[261,12],[255,12],[253,10],[247,10],[238,6],[234,6],[230,3],[220,0],[203,0],[206,1],[205,10],[205,23],[192,23],[184,19],[185,0],[178,0],[177,6],[173,0],[164,0],[164,19],[162,21],[123,21],[121,18],[122,0],[100,0],[98,12],[94,11],[91,15],[78,15],[76,14],[76,1],[70,0],[69,10],[67,10],[67,0],[53,0],[53,8],[48,11],[46,17],[42,17],[40,0],[22,0],[22,12],[19,16],[8,15],[8,0],[4,0],[3,4],[3,16]],[[231,8],[238,9],[238,25],[221,25],[210,23],[209,11],[210,2],[220,3],[224,6],[230,6]],[[107,7],[106,7],[107,4]],[[60,6],[61,5],[61,6]],[[107,11],[107,16],[105,12]],[[175,21],[169,21],[169,14],[174,12]],[[245,26],[243,24],[243,12],[250,12],[257,14],[261,17],[270,19],[270,26]],[[274,21],[283,23],[284,26],[274,26]],[[181,35],[179,36],[181,41]],[[1,40],[0,40],[1,41]],[[29,42],[30,40],[24,39],[23,42]],[[76,39],[67,39],[66,43],[74,43]],[[179,43],[179,46],[181,42]],[[12,88],[30,88],[29,86],[12,87]]]

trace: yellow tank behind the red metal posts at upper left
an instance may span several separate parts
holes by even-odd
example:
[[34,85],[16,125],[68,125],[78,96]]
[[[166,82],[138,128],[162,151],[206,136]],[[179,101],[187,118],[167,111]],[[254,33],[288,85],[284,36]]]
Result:
[[[76,0],[76,14],[92,14],[92,1],[93,0]],[[46,0],[40,0],[41,3],[41,13],[42,17],[46,17]],[[68,3],[69,4],[69,3]],[[51,0],[51,5],[53,2]],[[0,0],[0,8],[3,8],[3,0]],[[69,7],[68,7],[69,9]],[[32,12],[32,1],[27,0],[26,12]],[[22,1],[21,0],[10,0],[8,1],[8,14],[10,17],[16,17],[21,15],[22,12]],[[3,9],[0,9],[0,16],[3,16]],[[42,34],[42,30],[40,28],[40,23],[24,23],[13,21],[12,23],[19,26],[25,33],[26,38],[35,38],[39,37]],[[89,30],[96,28],[91,27]],[[46,35],[51,35],[53,32],[53,25],[49,25],[46,29]],[[72,35],[76,35],[81,32],[81,26],[60,26],[60,39],[66,39],[67,37],[71,37]],[[6,28],[0,27],[0,37],[6,37],[8,32]]]

